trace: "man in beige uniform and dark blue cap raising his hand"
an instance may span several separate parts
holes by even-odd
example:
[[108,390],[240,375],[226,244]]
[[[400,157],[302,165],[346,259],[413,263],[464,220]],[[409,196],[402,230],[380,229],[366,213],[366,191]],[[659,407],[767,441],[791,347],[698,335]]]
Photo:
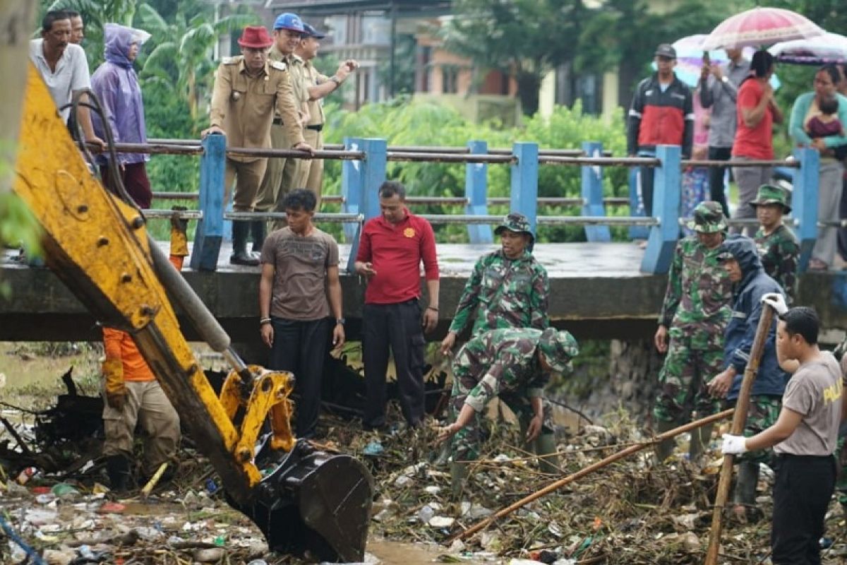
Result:
[[[312,60],[318,56],[319,40],[326,37],[323,33],[315,30],[311,25],[303,24],[303,29],[306,30],[303,34],[300,44],[297,45],[294,53],[302,58],[303,61],[303,79],[306,85],[308,101],[308,121],[303,129],[303,137],[306,142],[315,149],[324,147],[324,102],[323,98],[330,92],[335,92],[341,83],[347,78],[347,75],[355,70],[359,65],[353,59],[347,59],[338,65],[338,70],[335,75],[326,76],[318,73],[315,69]],[[315,193],[318,199],[316,211],[320,212],[320,197],[321,186],[324,182],[324,160],[323,159],[302,159],[300,160],[300,174],[296,179],[298,188],[307,188]]]

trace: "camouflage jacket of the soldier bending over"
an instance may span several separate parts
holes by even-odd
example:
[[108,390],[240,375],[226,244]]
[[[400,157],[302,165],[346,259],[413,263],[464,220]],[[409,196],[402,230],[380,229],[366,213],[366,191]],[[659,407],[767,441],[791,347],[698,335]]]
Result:
[[540,397],[550,380],[535,355],[540,336],[534,328],[490,330],[462,346],[453,360],[453,378],[477,383],[465,403],[479,412],[501,393]]

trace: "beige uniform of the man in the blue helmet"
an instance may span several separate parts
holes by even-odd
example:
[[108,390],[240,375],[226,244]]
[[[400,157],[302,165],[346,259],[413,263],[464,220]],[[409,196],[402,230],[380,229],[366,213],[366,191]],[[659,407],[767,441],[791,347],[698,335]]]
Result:
[[[270,49],[270,58],[274,61],[280,61],[280,63],[288,67],[291,75],[291,88],[294,91],[295,106],[299,110],[302,108],[302,103],[306,102],[309,97],[303,85],[302,58],[294,54],[284,57],[275,45]],[[303,136],[299,114],[295,125],[298,130],[297,135]],[[292,135],[291,128],[285,116],[276,116],[274,118],[274,125],[270,129],[271,147],[274,147],[274,149],[287,149],[291,147]],[[285,212],[285,210],[280,209],[280,205],[285,195],[292,188],[297,188],[294,184],[298,177],[300,163],[302,163],[301,159],[289,158],[272,158],[268,161],[268,169],[265,170],[256,202],[258,212],[268,212],[269,210]],[[284,227],[285,220],[276,220],[274,226]]]

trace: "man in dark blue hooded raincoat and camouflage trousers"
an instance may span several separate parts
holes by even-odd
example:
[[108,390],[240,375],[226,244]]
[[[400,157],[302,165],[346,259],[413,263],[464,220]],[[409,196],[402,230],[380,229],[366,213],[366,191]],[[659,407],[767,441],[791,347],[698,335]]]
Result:
[[[726,397],[728,405],[738,401],[741,381],[750,359],[750,350],[756,338],[756,329],[762,313],[763,296],[783,296],[776,280],[761,266],[756,243],[742,235],[731,236],[723,242],[718,260],[734,283],[732,319],[724,333],[723,354],[726,368],[711,380],[709,390],[718,398]],[[776,424],[782,408],[782,397],[789,375],[779,367],[776,346],[777,320],[768,330],[756,380],[750,390],[750,407],[747,412],[744,435],[750,437]],[[735,483],[734,512],[745,518],[747,508],[756,506],[756,484],[759,481],[759,463],[767,462],[771,450],[747,451],[736,459],[739,463]]]

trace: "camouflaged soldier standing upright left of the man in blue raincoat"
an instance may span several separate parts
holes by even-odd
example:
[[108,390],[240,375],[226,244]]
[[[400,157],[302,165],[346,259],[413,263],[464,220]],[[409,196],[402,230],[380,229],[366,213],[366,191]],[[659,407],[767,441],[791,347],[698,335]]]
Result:
[[[659,372],[662,389],[653,407],[659,432],[687,421],[692,402],[698,418],[716,413],[718,405],[706,381],[723,369],[723,330],[732,301],[732,284],[717,261],[727,229],[721,205],[700,202],[688,228],[696,234],[677,244],[654,337],[656,349],[667,352]],[[711,426],[692,432],[692,460],[700,457],[710,437]],[[671,455],[674,444],[673,440],[659,444],[659,461]]]

